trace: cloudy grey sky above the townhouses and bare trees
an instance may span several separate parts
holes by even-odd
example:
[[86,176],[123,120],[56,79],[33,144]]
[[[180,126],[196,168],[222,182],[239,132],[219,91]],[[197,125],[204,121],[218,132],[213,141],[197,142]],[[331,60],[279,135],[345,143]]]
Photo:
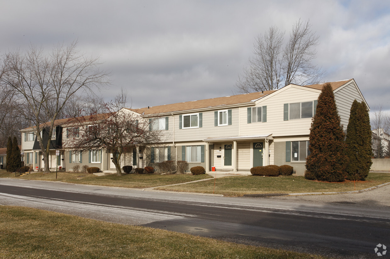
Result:
[[99,55],[111,71],[106,101],[123,87],[133,108],[231,95],[256,35],[272,25],[288,35],[295,21],[310,19],[320,36],[322,81],[355,78],[371,109],[390,110],[389,1],[0,3],[1,54],[77,39],[79,50]]

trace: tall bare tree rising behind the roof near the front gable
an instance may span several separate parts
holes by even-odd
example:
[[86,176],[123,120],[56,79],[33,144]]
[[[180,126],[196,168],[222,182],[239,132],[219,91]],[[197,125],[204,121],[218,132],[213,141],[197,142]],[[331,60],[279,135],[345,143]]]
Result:
[[254,57],[248,60],[236,82],[241,93],[274,90],[290,83],[318,83],[323,72],[312,64],[319,37],[312,32],[309,21],[297,21],[284,44],[284,33],[273,26],[259,35],[254,43]]

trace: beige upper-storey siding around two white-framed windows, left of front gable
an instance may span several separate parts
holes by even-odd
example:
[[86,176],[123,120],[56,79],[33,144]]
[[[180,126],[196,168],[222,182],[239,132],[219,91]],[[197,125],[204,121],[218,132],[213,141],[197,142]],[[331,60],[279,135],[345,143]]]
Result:
[[193,129],[179,129],[179,115],[175,115],[175,142],[199,141],[207,137],[237,136],[239,109],[232,109],[232,125],[228,126],[214,126],[214,112],[215,111],[203,112],[202,128]]

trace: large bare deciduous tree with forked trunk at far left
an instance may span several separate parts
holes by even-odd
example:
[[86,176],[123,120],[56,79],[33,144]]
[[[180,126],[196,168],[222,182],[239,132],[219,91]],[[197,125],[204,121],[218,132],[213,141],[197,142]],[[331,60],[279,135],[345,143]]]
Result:
[[46,146],[41,131],[52,132],[65,104],[80,89],[91,91],[106,83],[107,73],[99,70],[99,58],[87,57],[76,49],[77,42],[68,46],[58,44],[50,55],[42,48],[30,46],[24,54],[10,51],[3,57],[0,82],[12,89],[16,98],[23,100],[20,111],[29,119],[37,136],[44,160],[44,172],[49,169],[50,141]]

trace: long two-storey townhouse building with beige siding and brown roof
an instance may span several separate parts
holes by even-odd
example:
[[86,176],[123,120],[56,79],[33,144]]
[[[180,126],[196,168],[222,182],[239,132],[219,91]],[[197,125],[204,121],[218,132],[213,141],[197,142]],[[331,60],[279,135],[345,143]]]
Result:
[[[346,130],[353,101],[365,99],[353,79],[330,84]],[[161,161],[185,160],[189,168],[200,165],[206,171],[215,167],[217,171],[237,172],[260,165],[287,164],[296,174],[303,175],[310,125],[323,85],[290,84],[272,91],[125,108],[140,121],[149,123],[150,131],[161,131],[163,138],[155,145],[128,147],[127,153],[122,155],[121,166],[157,168]],[[61,124],[63,142],[69,138],[69,132],[77,137],[74,129],[79,124],[75,121]],[[27,142],[23,147],[27,147]],[[74,165],[99,167],[103,171],[115,168],[110,159],[114,154],[106,150],[98,153],[62,151],[61,165],[67,170]]]

